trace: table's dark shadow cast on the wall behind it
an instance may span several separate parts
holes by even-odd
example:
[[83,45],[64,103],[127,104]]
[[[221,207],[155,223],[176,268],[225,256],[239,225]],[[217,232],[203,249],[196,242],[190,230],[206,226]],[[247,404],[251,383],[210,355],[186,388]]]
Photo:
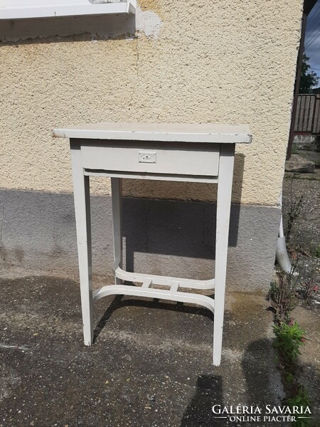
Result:
[[[236,154],[228,243],[233,247],[238,243],[244,163],[245,156]],[[157,186],[168,185],[157,182]],[[201,191],[201,184],[192,185]],[[215,203],[124,198],[123,213],[127,271],[134,271],[136,253],[215,259]]]

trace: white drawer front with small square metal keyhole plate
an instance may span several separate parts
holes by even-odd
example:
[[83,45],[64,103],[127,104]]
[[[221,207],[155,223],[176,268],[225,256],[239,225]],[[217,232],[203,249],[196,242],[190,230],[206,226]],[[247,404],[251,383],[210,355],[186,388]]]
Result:
[[81,152],[85,169],[218,176],[220,145],[95,141],[82,143]]

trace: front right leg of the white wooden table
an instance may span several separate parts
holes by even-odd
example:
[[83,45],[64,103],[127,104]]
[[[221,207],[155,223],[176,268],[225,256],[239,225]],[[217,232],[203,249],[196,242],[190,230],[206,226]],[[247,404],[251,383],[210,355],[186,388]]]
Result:
[[213,364],[220,365],[225,311],[231,191],[233,186],[234,144],[220,144],[217,222],[215,238],[215,312],[213,323]]

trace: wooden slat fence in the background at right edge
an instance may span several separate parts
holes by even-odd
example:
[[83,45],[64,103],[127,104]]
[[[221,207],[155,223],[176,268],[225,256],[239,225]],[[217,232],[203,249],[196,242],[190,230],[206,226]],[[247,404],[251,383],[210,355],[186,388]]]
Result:
[[294,133],[320,134],[320,95],[299,95]]

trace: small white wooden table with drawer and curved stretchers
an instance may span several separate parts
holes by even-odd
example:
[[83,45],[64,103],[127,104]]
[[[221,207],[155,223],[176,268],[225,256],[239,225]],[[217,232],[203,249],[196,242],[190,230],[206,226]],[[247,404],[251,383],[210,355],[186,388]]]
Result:
[[[235,144],[249,144],[247,125],[99,123],[53,131],[70,138],[85,345],[93,341],[93,303],[107,295],[191,302],[214,313],[213,364],[220,365]],[[92,291],[90,176],[110,176],[115,285]],[[218,184],[215,275],[190,280],[122,268],[122,178]],[[123,285],[128,280],[139,286]],[[151,288],[152,285],[152,288]],[[161,285],[161,289],[156,287]],[[164,289],[164,287],[166,289]],[[215,289],[211,297],[186,289]]]

